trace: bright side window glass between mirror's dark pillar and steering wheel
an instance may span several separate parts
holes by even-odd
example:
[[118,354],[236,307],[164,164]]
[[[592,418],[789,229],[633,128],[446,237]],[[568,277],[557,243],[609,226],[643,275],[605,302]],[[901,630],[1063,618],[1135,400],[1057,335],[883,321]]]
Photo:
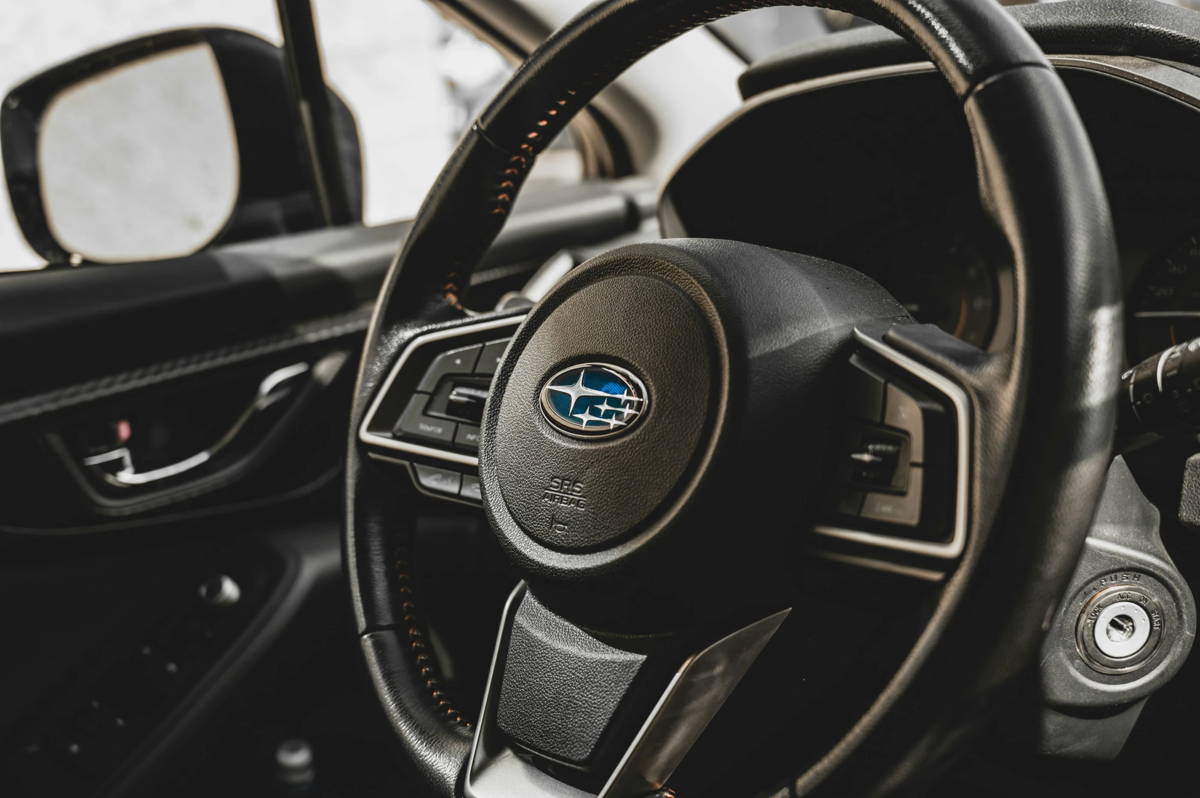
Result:
[[[514,66],[421,0],[314,0],[313,10],[326,79],[359,126],[364,222],[409,218]],[[529,180],[582,176],[568,132]]]

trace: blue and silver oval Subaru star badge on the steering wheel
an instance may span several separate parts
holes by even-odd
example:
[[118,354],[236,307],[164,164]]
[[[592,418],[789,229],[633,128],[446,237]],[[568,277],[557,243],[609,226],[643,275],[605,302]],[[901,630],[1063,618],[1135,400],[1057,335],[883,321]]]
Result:
[[628,430],[647,410],[646,386],[619,365],[581,363],[563,369],[541,389],[541,412],[574,437]]

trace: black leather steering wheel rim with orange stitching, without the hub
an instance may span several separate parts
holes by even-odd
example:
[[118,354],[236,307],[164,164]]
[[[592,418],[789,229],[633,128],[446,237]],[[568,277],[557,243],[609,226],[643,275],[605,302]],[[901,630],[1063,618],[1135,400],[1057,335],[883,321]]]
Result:
[[[356,433],[414,337],[480,320],[461,306],[470,272],[534,158],[575,113],[679,34],[776,5],[803,4],[607,0],[551,36],[460,141],[414,220],[379,294],[350,429]],[[811,5],[890,28],[934,61],[962,102],[984,207],[1014,265],[1016,324],[1004,351],[988,355],[916,325],[882,333],[888,345],[959,385],[973,411],[968,534],[958,568],[884,693],[796,782],[797,792],[886,792],[930,768],[986,713],[1052,617],[1112,448],[1120,279],[1084,126],[1040,49],[997,4]],[[424,643],[406,548],[412,524],[395,482],[377,472],[352,434],[344,543],[362,651],[419,780],[433,794],[455,796],[473,726],[442,693]]]

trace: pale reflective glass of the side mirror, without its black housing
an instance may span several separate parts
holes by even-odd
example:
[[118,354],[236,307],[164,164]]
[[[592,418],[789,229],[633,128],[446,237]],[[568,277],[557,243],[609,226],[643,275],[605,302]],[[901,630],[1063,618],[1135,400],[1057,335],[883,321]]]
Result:
[[216,56],[188,44],[67,86],[37,141],[47,225],[76,259],[190,255],[238,200],[238,138]]

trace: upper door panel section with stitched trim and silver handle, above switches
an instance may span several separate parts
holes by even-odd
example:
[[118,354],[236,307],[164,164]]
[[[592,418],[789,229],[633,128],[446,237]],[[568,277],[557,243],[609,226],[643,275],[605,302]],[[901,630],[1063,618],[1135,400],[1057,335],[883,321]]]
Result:
[[[559,248],[636,229],[649,204],[635,192],[534,194],[490,253],[491,279],[518,288]],[[173,261],[5,277],[0,370],[13,379],[0,386],[0,530],[145,525],[329,484],[370,303],[407,229],[348,225]],[[264,380],[289,368],[307,373],[253,412]]]

